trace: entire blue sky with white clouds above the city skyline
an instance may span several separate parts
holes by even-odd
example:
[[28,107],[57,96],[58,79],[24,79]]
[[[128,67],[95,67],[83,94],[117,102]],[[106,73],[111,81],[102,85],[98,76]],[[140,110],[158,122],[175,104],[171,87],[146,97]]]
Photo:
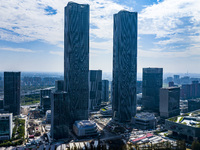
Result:
[[[3,1],[3,0],[0,0]],[[90,5],[90,69],[112,72],[113,14],[138,12],[138,72],[200,73],[199,0],[75,0]],[[0,3],[0,71],[63,72],[68,0]]]

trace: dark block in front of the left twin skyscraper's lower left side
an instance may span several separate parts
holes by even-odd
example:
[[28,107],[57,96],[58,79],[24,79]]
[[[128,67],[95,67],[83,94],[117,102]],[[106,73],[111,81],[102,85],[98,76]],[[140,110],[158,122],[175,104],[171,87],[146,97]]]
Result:
[[51,95],[51,136],[64,139],[69,136],[69,99],[66,92]]

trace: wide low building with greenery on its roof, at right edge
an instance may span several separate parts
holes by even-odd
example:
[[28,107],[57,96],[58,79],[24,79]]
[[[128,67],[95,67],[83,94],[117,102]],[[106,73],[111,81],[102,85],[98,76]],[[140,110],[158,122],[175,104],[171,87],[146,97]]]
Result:
[[200,109],[166,119],[165,128],[184,140],[200,140]]

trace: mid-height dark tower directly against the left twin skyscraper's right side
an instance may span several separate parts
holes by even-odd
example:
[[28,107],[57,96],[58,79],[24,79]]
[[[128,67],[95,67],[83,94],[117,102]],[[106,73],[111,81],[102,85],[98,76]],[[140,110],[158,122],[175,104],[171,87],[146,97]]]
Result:
[[99,109],[101,105],[102,70],[90,70],[89,110]]

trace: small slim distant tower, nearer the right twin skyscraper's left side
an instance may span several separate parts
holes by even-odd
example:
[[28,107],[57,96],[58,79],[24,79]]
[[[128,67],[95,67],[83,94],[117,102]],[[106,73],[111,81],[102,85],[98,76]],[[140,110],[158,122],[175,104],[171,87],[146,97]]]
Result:
[[102,101],[108,102],[109,101],[109,81],[102,80]]

